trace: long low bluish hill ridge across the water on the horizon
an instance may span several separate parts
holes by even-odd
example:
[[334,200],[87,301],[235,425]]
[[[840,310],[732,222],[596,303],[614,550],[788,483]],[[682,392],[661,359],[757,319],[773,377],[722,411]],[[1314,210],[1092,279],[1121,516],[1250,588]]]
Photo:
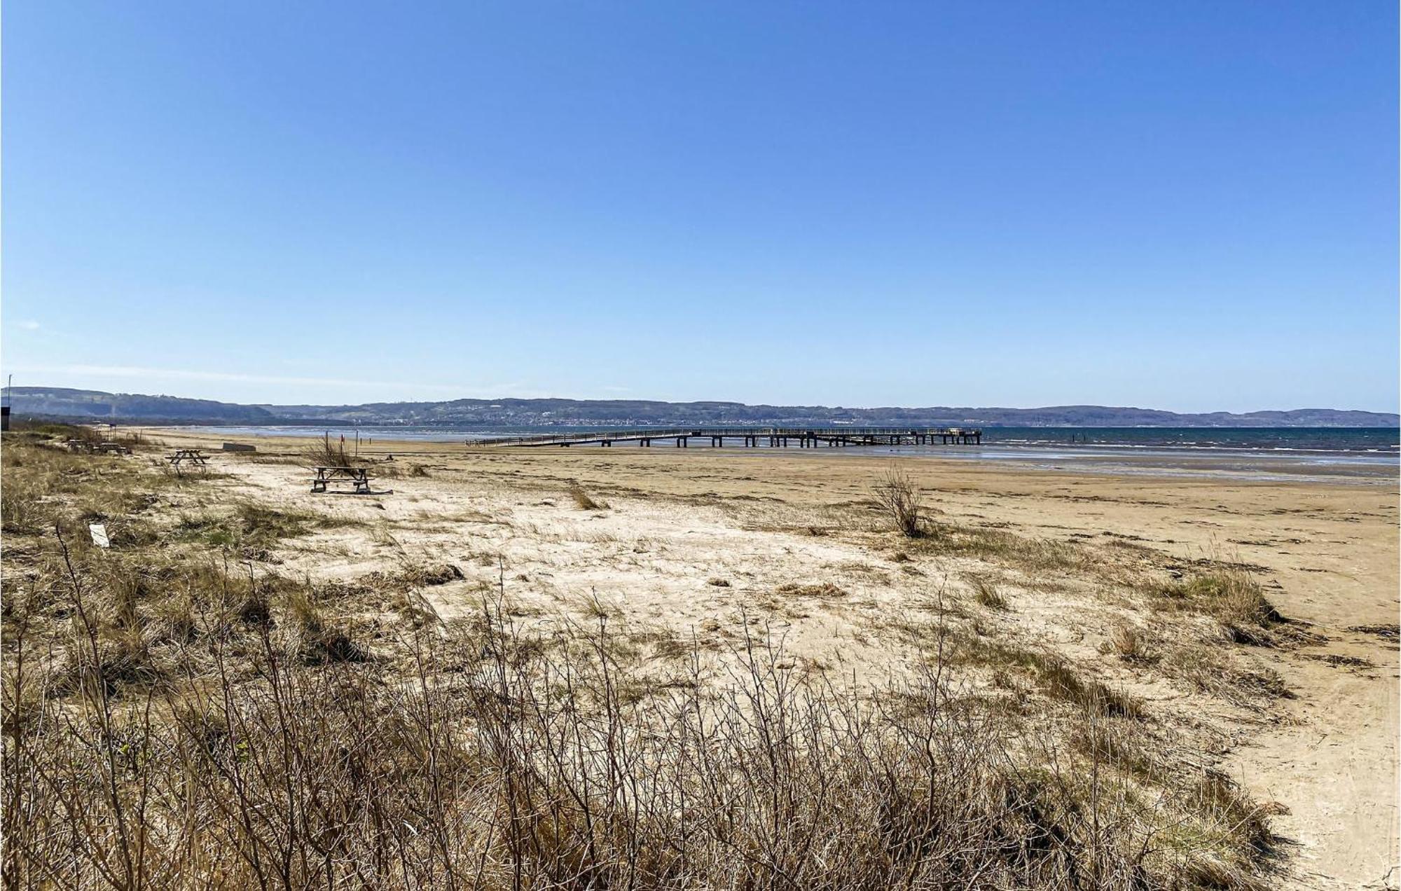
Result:
[[1182,415],[1140,408],[1056,405],[1009,408],[828,408],[743,402],[656,402],[646,399],[451,399],[366,405],[238,405],[182,396],[111,394],[62,387],[15,387],[15,417],[62,417],[140,423],[231,424],[912,424],[1003,427],[1397,427],[1390,412],[1293,409]]

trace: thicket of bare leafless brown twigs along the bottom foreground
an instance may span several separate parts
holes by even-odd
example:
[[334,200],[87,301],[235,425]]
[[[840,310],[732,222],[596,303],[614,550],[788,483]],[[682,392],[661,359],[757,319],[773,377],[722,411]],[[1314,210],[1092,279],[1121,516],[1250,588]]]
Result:
[[[488,602],[471,628],[410,640],[402,684],[374,663],[289,661],[262,630],[255,671],[216,650],[209,693],[168,717],[77,700],[98,733],[49,730],[63,706],[21,707],[7,685],[7,880],[1070,888],[1180,869],[1149,843],[1164,817],[1122,780],[1019,764],[1028,728],[969,712],[937,664],[852,696],[747,635],[717,688],[692,674],[653,695],[622,682],[621,643],[605,618],[534,639]],[[1243,869],[1234,829],[1188,828]]]

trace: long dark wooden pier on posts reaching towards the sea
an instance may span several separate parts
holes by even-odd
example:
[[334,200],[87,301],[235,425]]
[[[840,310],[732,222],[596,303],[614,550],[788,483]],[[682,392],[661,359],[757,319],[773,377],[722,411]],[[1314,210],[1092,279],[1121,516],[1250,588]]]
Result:
[[744,448],[799,448],[843,446],[979,446],[982,430],[969,427],[678,427],[640,430],[595,430],[591,433],[555,433],[539,436],[511,436],[500,438],[467,440],[468,446],[612,446],[636,443],[649,447],[654,441],[674,441],[677,448],[688,448],[691,440],[706,441],[723,448],[726,440]]

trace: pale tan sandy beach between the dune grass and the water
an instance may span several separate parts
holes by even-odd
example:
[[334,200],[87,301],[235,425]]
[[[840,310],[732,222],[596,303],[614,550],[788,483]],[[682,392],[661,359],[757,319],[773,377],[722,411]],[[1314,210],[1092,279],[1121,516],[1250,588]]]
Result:
[[[158,431],[165,443],[217,448],[220,437]],[[880,537],[864,502],[885,458],[772,455],[736,450],[468,450],[378,440],[361,455],[394,454],[392,495],[312,496],[308,474],[277,454],[300,443],[256,441],[256,457],[219,455],[219,485],[272,503],[368,518],[363,528],[301,539],[282,555],[314,579],[381,569],[394,548],[451,559],[467,579],[430,591],[444,616],[474,609],[483,587],[541,609],[583,609],[590,597],[633,621],[702,642],[733,639],[743,622],[769,623],[794,658],[856,675],[898,671],[908,646],[892,629],[943,591],[967,590],[971,558],[908,562]],[[413,465],[427,476],[409,475]],[[389,465],[384,465],[389,467]],[[992,567],[1010,609],[986,621],[1055,647],[1124,685],[1163,714],[1216,740],[1229,772],[1288,808],[1275,818],[1288,884],[1395,887],[1398,532],[1395,479],[1222,482],[1112,476],[1007,464],[902,458],[929,492],[936,518],[1054,541],[1087,542],[1125,560],[1189,566],[1203,556],[1251,565],[1272,602],[1323,639],[1250,647],[1293,698],[1234,707],[1139,677],[1098,653],[1132,608],[1103,581],[1041,584],[1024,567]],[[577,481],[607,509],[583,510]],[[853,521],[852,517],[856,517]],[[1119,546],[1119,549],[1115,549]],[[1146,556],[1145,556],[1146,555]],[[723,584],[720,584],[723,583]],[[835,584],[838,594],[775,598],[783,584]],[[1129,616],[1136,621],[1136,616]],[[1150,621],[1143,616],[1142,621]]]

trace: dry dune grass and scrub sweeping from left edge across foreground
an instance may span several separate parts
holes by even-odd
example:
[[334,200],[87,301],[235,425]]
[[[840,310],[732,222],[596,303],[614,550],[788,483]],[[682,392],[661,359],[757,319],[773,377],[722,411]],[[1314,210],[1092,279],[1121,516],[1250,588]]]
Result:
[[[35,518],[7,531],[0,616],[6,887],[1252,888],[1264,874],[1264,808],[1171,764],[1140,703],[1052,654],[950,635],[908,675],[853,686],[817,661],[794,670],[748,622],[715,649],[630,633],[593,597],[587,621],[527,628],[504,572],[467,619],[398,622],[401,594],[462,570],[401,546],[396,567],[338,586],[279,576],[237,549],[324,520],[217,499],[177,521],[179,548],[99,552],[77,535],[84,504],[156,471],[17,457],[6,448],[4,489],[32,503],[7,516]],[[657,654],[670,674],[639,671]],[[965,665],[1016,672],[1056,709],[969,696]]]

